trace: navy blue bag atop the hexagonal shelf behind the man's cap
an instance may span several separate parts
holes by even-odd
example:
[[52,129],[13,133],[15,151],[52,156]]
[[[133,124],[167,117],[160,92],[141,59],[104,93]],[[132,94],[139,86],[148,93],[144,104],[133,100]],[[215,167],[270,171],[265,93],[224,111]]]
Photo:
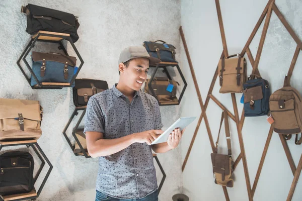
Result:
[[[157,43],[158,41],[162,43]],[[163,62],[176,62],[175,60],[175,47],[167,44],[165,41],[145,41],[143,46],[146,48],[150,56],[161,59]]]

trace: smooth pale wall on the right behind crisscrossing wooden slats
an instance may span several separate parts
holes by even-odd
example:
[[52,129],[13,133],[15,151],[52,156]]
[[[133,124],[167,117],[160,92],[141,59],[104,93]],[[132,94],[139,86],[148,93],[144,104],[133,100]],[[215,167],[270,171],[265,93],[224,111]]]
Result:
[[[246,44],[268,1],[230,0],[219,2],[229,54],[239,53]],[[302,39],[301,1],[276,0],[275,2],[295,33]],[[222,52],[222,42],[215,1],[181,1],[181,18],[181,24],[184,29],[191,59],[198,78],[201,95],[203,101],[205,101],[217,62]],[[256,57],[263,24],[250,45],[254,58]],[[262,77],[269,81],[272,92],[283,86],[284,76],[290,66],[295,47],[296,43],[288,34],[277,16],[273,13],[259,63],[259,71]],[[184,74],[188,80],[188,90],[186,91],[182,103],[182,116],[197,115],[199,117],[201,110],[193,81],[189,78],[191,74],[184,52],[181,53],[181,56]],[[246,55],[245,57],[247,58]],[[302,92],[300,79],[302,73],[301,59],[300,52],[291,78],[291,85],[300,93]],[[248,59],[247,61],[249,74],[251,73],[252,68]],[[219,82],[217,79],[213,89],[213,95],[234,114],[231,95],[220,94],[218,91]],[[241,94],[236,95],[238,110],[241,115],[243,105],[240,104],[240,97]],[[221,110],[212,100],[210,100],[206,114],[215,141],[218,134]],[[232,122],[231,136],[233,157],[236,159],[240,153],[240,146],[236,125],[233,121],[230,122]],[[267,123],[265,116],[246,118],[244,123],[242,133],[251,185],[254,183],[269,128],[270,125]],[[183,158],[188,150],[194,129],[194,126],[188,128],[186,131],[187,138],[183,138]],[[222,132],[222,134],[224,134],[224,132]],[[225,138],[222,138],[221,136],[220,140],[223,146],[222,151],[226,153]],[[302,152],[302,146],[295,145],[293,139],[288,142],[288,146],[293,160],[297,165]],[[214,184],[213,181],[210,153],[211,147],[209,138],[204,120],[202,120],[195,144],[183,174],[184,191],[189,195],[190,200],[225,200],[221,186]],[[235,170],[235,176],[236,181],[234,187],[228,188],[230,199],[240,201],[248,200],[242,161]],[[273,133],[258,186],[255,191],[254,200],[286,200],[292,179],[293,175],[280,143],[280,139],[276,133]],[[302,182],[300,176],[292,200],[301,200],[301,187]]]

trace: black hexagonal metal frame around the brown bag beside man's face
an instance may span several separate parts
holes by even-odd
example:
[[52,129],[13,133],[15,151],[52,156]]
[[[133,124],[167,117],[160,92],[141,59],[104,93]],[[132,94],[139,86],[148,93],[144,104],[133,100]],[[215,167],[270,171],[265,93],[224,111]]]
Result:
[[[184,88],[182,89],[182,91],[181,91],[181,93],[180,93],[180,95],[179,95],[178,103],[177,103],[177,104],[173,103],[173,104],[165,104],[165,105],[162,105],[161,102],[159,101],[159,99],[157,98],[157,95],[156,95],[155,92],[154,92],[154,89],[153,89],[153,87],[152,87],[152,81],[153,81],[153,79],[154,79],[154,77],[155,77],[155,74],[156,74],[156,72],[158,71],[159,68],[164,68],[163,72],[165,72],[166,75],[167,75],[167,77],[168,77],[170,80],[172,80],[172,77],[171,77],[171,75],[169,74],[168,69],[167,69],[168,66],[172,66],[172,67],[176,66],[176,68],[177,68],[177,70],[178,70],[178,72],[179,72],[179,74],[180,74],[180,76],[181,76],[181,79],[183,80],[183,82],[184,82],[185,85],[184,85]],[[179,65],[178,65],[178,64],[172,64],[172,65],[171,65],[171,64],[161,64],[161,63],[159,63],[159,64],[157,64],[156,66],[150,66],[150,67],[156,67],[156,69],[155,69],[154,73],[152,74],[152,76],[151,76],[151,78],[150,78],[150,80],[149,80],[149,82],[148,82],[148,87],[149,87],[149,90],[152,92],[153,96],[156,97],[156,99],[158,100],[159,105],[160,105],[160,106],[177,106],[177,105],[179,105],[180,102],[181,102],[181,99],[182,99],[182,97],[183,97],[183,95],[184,95],[184,92],[185,92],[185,90],[186,90],[186,88],[187,88],[187,85],[188,85],[187,82],[186,82],[186,79],[185,79],[185,77],[184,77],[184,75],[183,75],[183,73],[182,73],[181,70],[180,70]]]

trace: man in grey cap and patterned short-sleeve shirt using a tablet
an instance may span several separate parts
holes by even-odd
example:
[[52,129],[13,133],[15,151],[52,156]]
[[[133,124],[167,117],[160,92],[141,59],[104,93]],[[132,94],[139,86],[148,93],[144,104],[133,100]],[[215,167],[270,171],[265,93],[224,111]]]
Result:
[[157,99],[140,88],[159,62],[143,46],[124,49],[118,84],[89,99],[84,132],[89,154],[100,160],[96,201],[158,200],[152,150],[174,149],[183,134],[176,129],[168,142],[150,145],[163,124]]

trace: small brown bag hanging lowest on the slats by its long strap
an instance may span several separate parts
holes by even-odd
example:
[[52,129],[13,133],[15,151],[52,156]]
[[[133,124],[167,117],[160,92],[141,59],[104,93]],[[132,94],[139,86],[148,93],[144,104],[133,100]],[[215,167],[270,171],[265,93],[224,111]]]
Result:
[[[224,119],[226,142],[228,143],[228,155],[218,154],[218,141],[219,141],[219,135],[220,135],[223,119]],[[216,141],[216,147],[214,153],[211,153],[211,159],[212,159],[215,183],[222,186],[233,187],[234,179],[232,178],[232,176],[233,176],[234,162],[232,159],[232,148],[231,148],[228,114],[225,111],[223,111],[221,114],[221,121],[220,121],[218,137]]]

